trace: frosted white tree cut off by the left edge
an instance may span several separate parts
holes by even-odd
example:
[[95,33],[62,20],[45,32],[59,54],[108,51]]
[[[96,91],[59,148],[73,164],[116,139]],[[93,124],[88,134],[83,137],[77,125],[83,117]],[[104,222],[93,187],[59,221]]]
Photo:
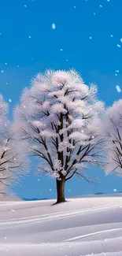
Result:
[[0,95],[0,193],[6,193],[6,187],[17,181],[28,162],[21,150],[22,143],[16,143],[7,115],[8,104]]

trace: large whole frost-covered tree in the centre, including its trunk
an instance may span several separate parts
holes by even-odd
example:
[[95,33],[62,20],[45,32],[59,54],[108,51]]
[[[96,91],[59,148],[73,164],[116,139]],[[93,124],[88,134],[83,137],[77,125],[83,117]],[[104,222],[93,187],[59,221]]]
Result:
[[35,76],[15,109],[17,135],[42,160],[38,174],[56,179],[57,202],[65,202],[65,181],[76,174],[94,182],[83,170],[102,164],[98,128],[104,104],[96,95],[97,87],[88,87],[76,71],[49,70]]

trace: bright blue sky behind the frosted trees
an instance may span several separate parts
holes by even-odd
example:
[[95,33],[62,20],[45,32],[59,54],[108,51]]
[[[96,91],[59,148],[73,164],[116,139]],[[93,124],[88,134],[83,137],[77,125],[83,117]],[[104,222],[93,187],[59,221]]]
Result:
[[[12,100],[10,112],[23,87],[45,69],[76,69],[86,83],[98,84],[106,106],[121,98],[116,91],[116,85],[122,88],[121,10],[121,0],[0,0],[0,92]],[[16,195],[54,198],[55,180],[32,173],[15,187]],[[105,177],[96,167],[89,174],[100,184],[74,177],[66,196],[122,191],[122,178]]]

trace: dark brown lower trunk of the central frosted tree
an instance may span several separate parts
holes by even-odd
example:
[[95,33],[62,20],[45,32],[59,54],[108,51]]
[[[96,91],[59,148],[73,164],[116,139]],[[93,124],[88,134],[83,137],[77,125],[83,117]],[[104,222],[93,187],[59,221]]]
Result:
[[57,180],[57,203],[65,202],[65,177]]

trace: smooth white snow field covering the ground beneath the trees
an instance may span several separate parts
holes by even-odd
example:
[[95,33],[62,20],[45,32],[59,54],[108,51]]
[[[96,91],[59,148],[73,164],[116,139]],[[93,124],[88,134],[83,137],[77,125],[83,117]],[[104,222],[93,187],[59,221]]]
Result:
[[122,197],[0,202],[0,255],[122,256]]

